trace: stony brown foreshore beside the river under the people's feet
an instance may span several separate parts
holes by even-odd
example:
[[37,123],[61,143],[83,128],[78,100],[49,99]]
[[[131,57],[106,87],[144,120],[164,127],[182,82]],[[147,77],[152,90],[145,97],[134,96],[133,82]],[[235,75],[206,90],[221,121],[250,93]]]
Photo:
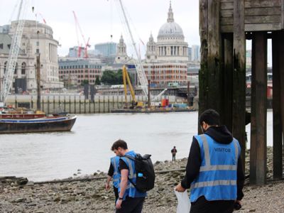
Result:
[[[185,175],[187,158],[156,162],[155,188],[148,192],[143,212],[176,212],[173,188]],[[246,168],[249,168],[246,159]],[[246,170],[248,173],[249,170]],[[272,149],[268,148],[268,184],[246,182],[242,209],[237,212],[284,212],[284,180],[272,180]],[[114,193],[104,190],[105,173],[50,183],[28,182],[26,178],[0,177],[0,212],[114,212]]]

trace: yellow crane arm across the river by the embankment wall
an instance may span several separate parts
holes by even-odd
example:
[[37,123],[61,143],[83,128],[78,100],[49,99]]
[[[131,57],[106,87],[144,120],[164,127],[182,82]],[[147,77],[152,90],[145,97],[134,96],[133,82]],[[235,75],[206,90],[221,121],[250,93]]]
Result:
[[122,67],[122,77],[123,77],[123,80],[124,80],[125,103],[127,103],[127,85],[126,85],[126,83],[127,83],[127,84],[129,84],[129,90],[130,90],[131,97],[132,97],[131,106],[129,108],[130,109],[143,108],[143,106],[144,106],[143,102],[137,102],[136,101],[135,92],[134,92],[134,89],[133,89],[131,81],[130,81],[129,72],[127,72],[127,70],[126,70],[126,65],[124,65],[124,67]]

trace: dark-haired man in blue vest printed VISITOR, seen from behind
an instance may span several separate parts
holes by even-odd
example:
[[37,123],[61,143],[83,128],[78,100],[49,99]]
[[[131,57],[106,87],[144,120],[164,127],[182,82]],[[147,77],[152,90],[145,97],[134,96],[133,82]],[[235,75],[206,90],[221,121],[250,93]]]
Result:
[[217,111],[207,109],[200,115],[203,134],[194,136],[187,160],[186,174],[175,187],[190,188],[190,213],[230,213],[244,197],[244,170],[239,142],[226,126],[220,126]]

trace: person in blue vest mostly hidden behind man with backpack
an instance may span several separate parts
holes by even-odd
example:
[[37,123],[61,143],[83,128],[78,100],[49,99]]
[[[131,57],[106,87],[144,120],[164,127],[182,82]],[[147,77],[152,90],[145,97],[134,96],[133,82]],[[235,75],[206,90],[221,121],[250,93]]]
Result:
[[111,164],[109,165],[109,173],[107,173],[107,182],[106,182],[106,190],[109,190],[109,182],[111,178],[113,178],[113,187],[114,187],[114,195],[115,195],[115,202],[119,198],[119,182],[121,175],[119,173],[119,156],[114,156],[111,158]]

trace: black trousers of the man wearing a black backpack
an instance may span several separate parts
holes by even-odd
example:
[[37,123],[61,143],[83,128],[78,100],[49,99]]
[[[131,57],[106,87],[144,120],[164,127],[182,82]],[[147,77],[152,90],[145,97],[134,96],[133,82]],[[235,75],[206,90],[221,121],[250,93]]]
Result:
[[116,213],[141,213],[145,197],[126,197]]

